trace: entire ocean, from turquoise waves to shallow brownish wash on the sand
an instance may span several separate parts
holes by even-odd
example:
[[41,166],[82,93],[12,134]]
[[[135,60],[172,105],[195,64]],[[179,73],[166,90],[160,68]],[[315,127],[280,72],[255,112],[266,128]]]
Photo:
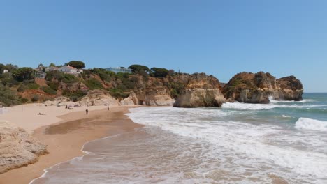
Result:
[[327,183],[327,93],[221,108],[138,107],[35,183]]

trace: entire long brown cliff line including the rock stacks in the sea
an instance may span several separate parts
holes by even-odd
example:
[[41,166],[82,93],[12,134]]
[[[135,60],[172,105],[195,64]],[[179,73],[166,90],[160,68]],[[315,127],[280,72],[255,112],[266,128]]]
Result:
[[[302,100],[303,86],[293,76],[276,79],[270,73],[242,72],[224,84],[204,73],[189,75],[165,68],[130,67],[133,73],[93,68],[71,75],[54,70],[46,72],[45,79],[23,81],[0,75],[0,102],[6,106],[47,101],[49,105],[220,107],[226,99],[249,103],[268,103],[270,97]],[[66,97],[64,101],[56,100],[62,96]]]

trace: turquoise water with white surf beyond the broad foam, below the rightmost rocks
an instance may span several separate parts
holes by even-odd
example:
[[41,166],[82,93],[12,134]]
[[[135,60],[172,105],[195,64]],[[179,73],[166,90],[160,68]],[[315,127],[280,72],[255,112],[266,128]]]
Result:
[[293,124],[301,117],[327,121],[327,93],[305,93],[303,98],[304,100],[300,102],[272,100],[269,105],[224,105],[222,111],[243,110],[248,113],[235,116],[233,119],[243,118],[249,123],[277,123],[289,128],[294,128]]

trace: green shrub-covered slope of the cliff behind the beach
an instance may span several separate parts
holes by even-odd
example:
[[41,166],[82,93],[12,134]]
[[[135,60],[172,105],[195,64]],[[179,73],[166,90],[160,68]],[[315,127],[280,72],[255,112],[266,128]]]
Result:
[[[70,61],[65,65],[85,68],[82,61]],[[111,72],[103,68],[84,69],[80,73],[48,70],[42,63],[36,69],[0,63],[1,98],[3,105],[17,105],[24,102],[43,102],[64,95],[71,100],[80,100],[89,90],[108,91],[117,99],[124,99],[131,91],[140,89],[166,88],[173,98],[182,91],[183,84],[174,77],[173,70],[131,65],[133,73]],[[60,67],[60,66],[57,66]],[[44,73],[45,77],[40,77]],[[43,76],[44,76],[43,75]]]

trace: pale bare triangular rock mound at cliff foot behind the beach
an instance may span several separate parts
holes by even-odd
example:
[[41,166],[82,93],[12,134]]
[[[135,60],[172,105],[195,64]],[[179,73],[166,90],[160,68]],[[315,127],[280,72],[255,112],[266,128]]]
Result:
[[113,98],[109,93],[99,89],[89,91],[89,93],[87,93],[79,103],[82,106],[120,105],[119,101]]

